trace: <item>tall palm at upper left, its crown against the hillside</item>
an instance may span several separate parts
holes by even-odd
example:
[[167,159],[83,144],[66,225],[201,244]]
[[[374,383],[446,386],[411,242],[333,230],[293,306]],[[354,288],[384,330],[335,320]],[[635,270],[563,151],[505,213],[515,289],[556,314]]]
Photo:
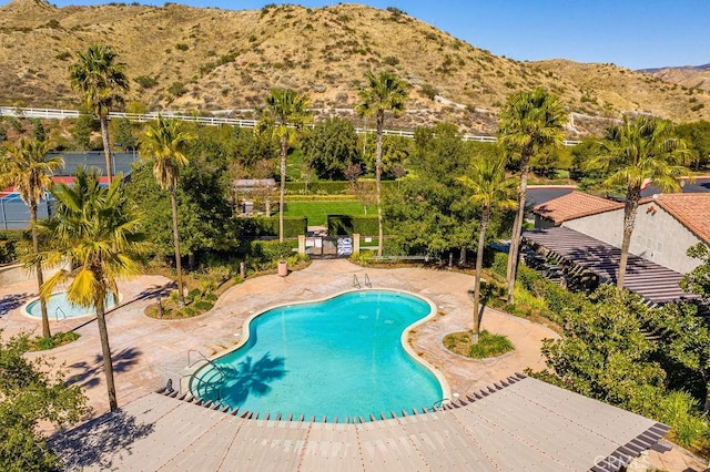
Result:
[[99,119],[101,124],[109,183],[113,178],[109,110],[114,104],[123,103],[121,92],[129,90],[124,69],[124,64],[116,62],[116,53],[111,47],[99,44],[90,45],[85,52],[78,52],[77,62],[69,66],[72,89],[81,92],[84,106]]

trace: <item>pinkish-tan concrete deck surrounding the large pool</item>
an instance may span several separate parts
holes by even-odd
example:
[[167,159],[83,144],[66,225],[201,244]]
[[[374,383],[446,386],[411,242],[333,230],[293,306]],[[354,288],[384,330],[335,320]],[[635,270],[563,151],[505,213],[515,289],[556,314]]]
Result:
[[[119,404],[154,392],[164,387],[169,378],[180,378],[187,367],[189,350],[211,357],[233,348],[241,339],[244,320],[253,314],[284,302],[325,298],[353,289],[353,277],[357,275],[362,283],[365,274],[373,288],[410,291],[437,305],[439,315],[417,327],[410,342],[415,352],[444,374],[452,392],[474,392],[526,368],[542,368],[542,339],[557,337],[547,327],[486,309],[481,328],[506,335],[515,345],[515,351],[495,360],[470,360],[450,353],[443,347],[442,339],[448,332],[470,328],[473,302],[468,289],[473,277],[449,270],[374,269],[346,260],[316,260],[287,277],[266,275],[247,279],[229,289],[210,312],[186,320],[145,317],[145,306],[153,301],[155,293],[169,290],[169,280],[141,276],[120,284],[122,305],[108,317]],[[20,331],[41,332],[39,320],[20,314],[20,307],[36,291],[33,280],[0,287],[0,329],[4,338]],[[82,318],[53,321],[51,326],[53,332],[75,328],[82,335],[78,341],[48,353],[55,358],[57,365],[63,363],[69,377],[84,388],[94,415],[106,412],[95,321]]]

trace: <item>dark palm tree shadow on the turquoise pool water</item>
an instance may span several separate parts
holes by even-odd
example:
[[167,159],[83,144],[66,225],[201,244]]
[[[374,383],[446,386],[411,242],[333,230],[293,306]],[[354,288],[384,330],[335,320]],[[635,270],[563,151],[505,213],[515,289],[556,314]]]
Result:
[[[251,356],[246,357],[242,362],[232,366],[220,366],[220,370],[224,374],[222,387],[216,387],[214,382],[219,378],[213,377],[209,384],[205,382],[201,389],[205,398],[226,400],[231,406],[239,407],[246,401],[250,394],[263,397],[271,391],[274,380],[282,379],[286,376],[287,370],[284,369],[285,359],[283,357],[271,357],[268,352],[261,359],[254,361]],[[215,387],[211,392],[211,387]]]

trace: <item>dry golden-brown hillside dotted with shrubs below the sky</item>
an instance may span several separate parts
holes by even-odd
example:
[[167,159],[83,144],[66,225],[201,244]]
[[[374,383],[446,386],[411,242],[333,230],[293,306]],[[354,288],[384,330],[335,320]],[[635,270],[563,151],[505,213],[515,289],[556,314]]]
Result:
[[[710,119],[708,92],[609,64],[499,58],[390,10],[55,8],[14,0],[0,8],[0,104],[77,107],[68,66],[77,51],[105,43],[126,64],[132,85],[126,100],[150,110],[253,109],[281,86],[308,94],[313,106],[327,113],[344,114],[339,109],[356,103],[366,71],[394,69],[413,85],[409,112],[395,124],[403,127],[450,120],[465,131],[493,133],[506,98],[535,86],[559,94],[570,113],[582,117],[575,120],[581,133],[608,123],[596,117],[618,119],[621,112]],[[437,100],[430,100],[434,93]]]

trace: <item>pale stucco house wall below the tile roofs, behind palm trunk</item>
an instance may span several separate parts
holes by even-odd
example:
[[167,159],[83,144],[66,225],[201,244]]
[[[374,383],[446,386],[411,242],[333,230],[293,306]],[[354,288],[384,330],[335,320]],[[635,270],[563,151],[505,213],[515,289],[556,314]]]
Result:
[[[648,211],[649,207],[656,209]],[[647,212],[648,211],[648,212]],[[623,237],[623,209],[600,213],[562,223],[570,229],[616,247]],[[629,252],[672,270],[686,274],[700,260],[686,255],[700,239],[653,202],[639,205]]]

